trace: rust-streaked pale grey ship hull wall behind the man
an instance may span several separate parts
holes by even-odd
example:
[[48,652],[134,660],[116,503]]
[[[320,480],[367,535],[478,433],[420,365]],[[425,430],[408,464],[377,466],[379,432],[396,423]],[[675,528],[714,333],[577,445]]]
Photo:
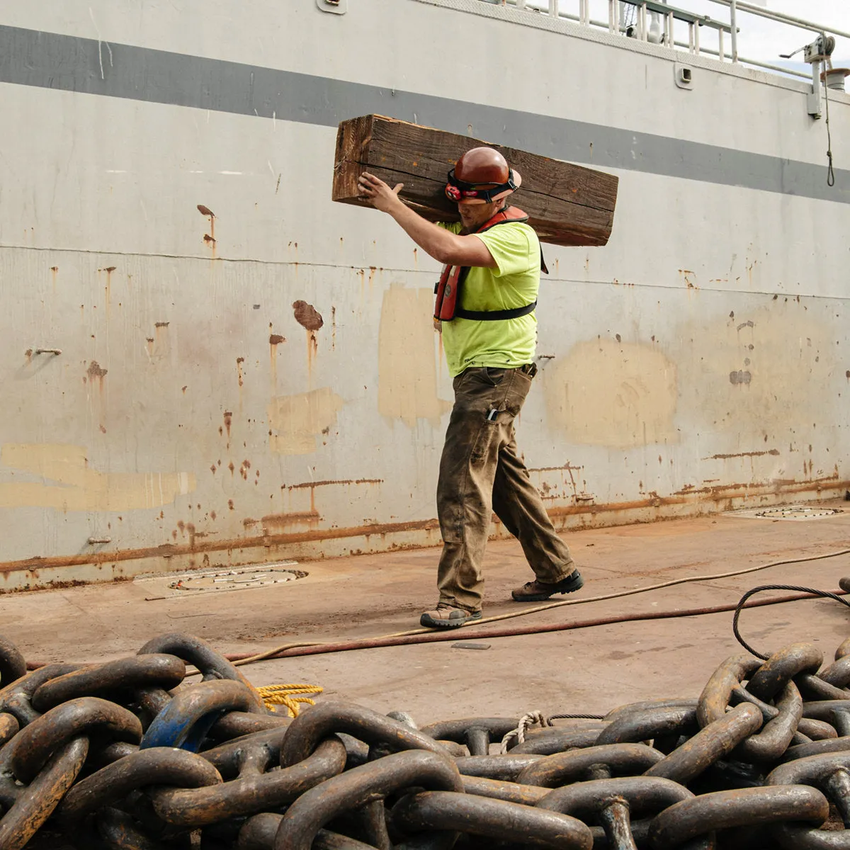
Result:
[[[0,105],[21,133],[0,163],[0,268],[20,281],[3,326],[15,412],[0,427],[3,589],[439,542],[422,498],[451,399],[428,324],[437,264],[377,213],[314,190],[355,105],[464,135],[489,127],[494,144],[620,178],[616,238],[553,249],[541,289],[542,368],[522,428],[558,524],[847,489],[847,204],[840,180],[822,185],[817,134],[797,132],[802,84],[698,57],[706,84],[686,104],[665,94],[670,51],[529,14],[486,24],[567,77],[604,74],[531,94],[519,80],[474,97],[448,80],[399,89],[400,59],[421,66],[433,37],[450,52],[475,37],[470,3],[376,0],[362,26],[398,33],[388,62],[364,57],[354,15],[313,0],[258,0],[212,42],[191,23],[201,0],[138,14],[107,0],[53,15],[5,4]],[[315,43],[332,69],[303,49]],[[288,70],[262,59],[280,44],[298,48]],[[611,81],[641,74],[626,126],[599,124],[617,111]],[[518,121],[505,105],[520,102]],[[768,117],[742,146],[711,120],[725,108]],[[830,120],[847,127],[841,98]],[[27,139],[42,140],[37,156]],[[640,204],[646,215],[628,212]],[[694,239],[683,208],[720,237]],[[825,235],[815,268],[786,229]],[[144,298],[141,281],[156,281]],[[376,441],[384,450],[362,451]]]

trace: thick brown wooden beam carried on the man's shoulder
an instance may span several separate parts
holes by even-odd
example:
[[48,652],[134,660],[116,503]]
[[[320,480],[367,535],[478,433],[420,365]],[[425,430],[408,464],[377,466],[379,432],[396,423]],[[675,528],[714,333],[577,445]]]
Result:
[[[446,176],[463,153],[481,144],[488,143],[378,115],[343,121],[332,199],[369,207],[357,188],[357,178],[369,171],[390,185],[405,184],[401,197],[429,221],[459,221],[456,205],[445,196]],[[529,214],[541,241],[564,246],[608,242],[618,178],[526,150],[491,147],[522,174],[522,188],[511,200]]]

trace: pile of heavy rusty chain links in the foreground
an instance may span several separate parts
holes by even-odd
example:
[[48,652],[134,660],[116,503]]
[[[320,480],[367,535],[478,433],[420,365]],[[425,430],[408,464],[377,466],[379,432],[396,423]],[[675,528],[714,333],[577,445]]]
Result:
[[[144,649],[167,647],[209,676],[233,675],[190,636]],[[198,838],[211,850],[449,850],[460,836],[582,850],[711,850],[716,836],[728,850],[850,845],[850,736],[840,735],[850,698],[803,705],[796,683],[825,679],[802,644],[732,656],[699,700],[561,718],[504,754],[489,751],[518,720],[417,728],[405,712],[320,700],[280,723],[241,677],[190,684],[185,669],[144,651],[48,666],[0,691],[0,847],[41,835],[127,850]],[[827,822],[830,804],[845,830]]]

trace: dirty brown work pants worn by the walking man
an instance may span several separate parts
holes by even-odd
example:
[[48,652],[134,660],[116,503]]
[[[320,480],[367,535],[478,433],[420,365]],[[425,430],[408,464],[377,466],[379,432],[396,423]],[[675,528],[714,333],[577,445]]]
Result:
[[441,603],[481,609],[481,565],[493,512],[519,540],[538,581],[561,581],[575,569],[517,453],[513,420],[535,371],[471,367],[455,378],[437,484]]

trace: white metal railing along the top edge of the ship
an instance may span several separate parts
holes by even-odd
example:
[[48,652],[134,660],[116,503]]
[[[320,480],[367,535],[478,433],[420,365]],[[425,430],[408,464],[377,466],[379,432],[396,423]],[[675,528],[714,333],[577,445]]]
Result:
[[[547,14],[553,18],[575,21],[581,26],[608,30],[612,33],[636,38],[639,41],[654,42],[670,48],[683,48],[690,54],[706,54],[717,57],[721,62],[730,61],[742,65],[751,65],[804,80],[811,80],[812,75],[795,68],[740,55],[738,42],[741,21],[746,20],[745,15],[754,15],[796,30],[850,38],[850,32],[836,29],[836,27],[774,12],[762,6],[742,2],[742,0],[709,0],[709,2],[718,6],[728,8],[728,21],[715,20],[705,14],[696,14],[686,8],[681,8],[681,6],[674,6],[667,0],[643,0],[643,2],[641,0],[629,0],[627,3],[623,3],[621,0],[482,0],[482,2],[526,9],[536,14]],[[687,0],[679,0],[679,2],[683,5],[687,4]],[[592,16],[592,7],[598,10],[604,9],[605,5],[608,7],[607,20],[604,20],[604,13],[598,14],[598,17]],[[624,12],[630,14],[630,17],[631,15],[634,16],[633,23],[630,20],[625,20]],[[741,13],[744,13],[744,15]],[[682,27],[687,28],[686,38],[681,37]],[[700,31],[702,30],[713,31],[716,34],[716,48],[709,46],[705,41],[700,44]],[[677,31],[680,34],[678,36]]]

